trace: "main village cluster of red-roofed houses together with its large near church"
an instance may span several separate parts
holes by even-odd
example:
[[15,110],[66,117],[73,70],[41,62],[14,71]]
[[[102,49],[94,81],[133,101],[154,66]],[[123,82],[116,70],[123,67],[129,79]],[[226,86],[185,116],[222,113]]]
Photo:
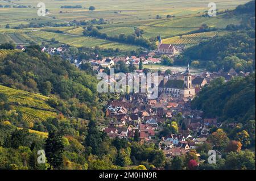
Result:
[[[193,75],[189,72],[189,65],[184,73],[160,74],[162,81],[157,99],[148,99],[142,93],[126,94],[106,105],[110,122],[104,132],[110,138],[154,142],[166,157],[196,149],[207,141],[210,128],[222,125],[217,117],[204,117],[203,111],[192,110],[191,100],[219,74],[205,71]],[[228,75],[225,81],[237,74],[230,70]],[[235,127],[236,124],[230,123],[229,126]]]

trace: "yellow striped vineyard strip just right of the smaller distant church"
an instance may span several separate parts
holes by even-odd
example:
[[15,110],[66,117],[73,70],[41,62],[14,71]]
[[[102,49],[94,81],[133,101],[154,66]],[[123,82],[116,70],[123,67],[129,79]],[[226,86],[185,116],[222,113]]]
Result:
[[202,32],[202,33],[192,33],[183,36],[175,36],[170,37],[168,39],[163,39],[163,43],[170,43],[170,44],[197,44],[201,41],[208,40],[214,36],[223,36],[225,32]]

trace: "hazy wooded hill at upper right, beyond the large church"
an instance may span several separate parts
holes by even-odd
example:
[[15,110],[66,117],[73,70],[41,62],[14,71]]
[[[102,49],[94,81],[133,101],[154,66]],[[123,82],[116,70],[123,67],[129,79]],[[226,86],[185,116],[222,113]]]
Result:
[[227,16],[242,19],[240,24],[226,26],[224,36],[216,36],[208,41],[185,49],[177,58],[177,64],[187,61],[197,61],[197,66],[209,71],[230,68],[236,71],[255,70],[255,1],[238,6],[233,11],[226,12]]

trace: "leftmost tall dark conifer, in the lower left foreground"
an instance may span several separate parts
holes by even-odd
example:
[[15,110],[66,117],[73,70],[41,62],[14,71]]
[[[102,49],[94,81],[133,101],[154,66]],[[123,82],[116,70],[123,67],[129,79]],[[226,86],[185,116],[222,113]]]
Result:
[[48,162],[53,166],[53,169],[59,169],[63,164],[64,145],[63,138],[55,132],[50,132],[46,140],[45,152]]

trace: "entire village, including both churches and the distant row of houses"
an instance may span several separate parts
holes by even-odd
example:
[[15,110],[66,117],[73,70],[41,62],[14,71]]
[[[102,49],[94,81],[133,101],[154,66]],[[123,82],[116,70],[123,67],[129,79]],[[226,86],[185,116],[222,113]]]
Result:
[[[159,55],[174,58],[183,51],[185,46],[175,47],[162,44],[159,41],[157,50],[140,56],[104,57],[102,60],[73,60],[77,68],[89,63],[92,70],[97,73],[104,72],[104,68],[113,68],[115,64],[123,62],[126,66],[146,64],[161,64]],[[24,50],[24,47],[17,47]],[[61,54],[68,48],[42,48],[48,54]],[[135,73],[143,70],[136,69]],[[126,74],[127,75],[127,74]],[[228,72],[201,71],[191,73],[189,64],[185,71],[158,71],[158,98],[149,99],[146,93],[126,93],[121,99],[111,100],[105,106],[105,116],[108,118],[108,127],[102,128],[110,138],[133,139],[139,142],[154,143],[159,150],[163,150],[166,157],[185,155],[197,146],[204,144],[210,135],[210,128],[220,128],[221,123],[217,117],[204,117],[204,112],[193,110],[191,101],[204,86],[215,78],[223,77],[225,82],[232,77],[245,77],[248,73],[234,69]],[[107,75],[109,77],[109,75]],[[116,81],[109,79],[109,83]],[[229,123],[235,127],[235,123]],[[221,153],[218,153],[221,155]],[[200,159],[200,154],[196,154]]]

